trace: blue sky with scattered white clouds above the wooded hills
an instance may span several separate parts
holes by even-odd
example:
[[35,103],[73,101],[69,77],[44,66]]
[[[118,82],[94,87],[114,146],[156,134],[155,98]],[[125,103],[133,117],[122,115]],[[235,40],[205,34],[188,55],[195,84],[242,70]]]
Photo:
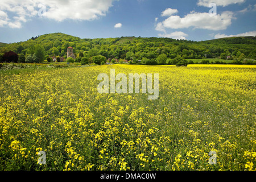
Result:
[[[209,11],[216,5],[216,15]],[[212,9],[213,10],[213,9]],[[256,35],[255,0],[1,0],[0,42],[62,32],[209,40]]]

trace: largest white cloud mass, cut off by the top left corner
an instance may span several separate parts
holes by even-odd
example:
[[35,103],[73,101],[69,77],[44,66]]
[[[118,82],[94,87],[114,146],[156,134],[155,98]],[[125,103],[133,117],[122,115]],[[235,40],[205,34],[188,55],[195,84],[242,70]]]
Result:
[[[44,16],[59,22],[65,19],[94,20],[108,13],[113,1],[117,0],[1,0],[1,11],[7,17],[2,16],[0,12],[0,26],[7,24],[13,28],[20,28],[27,19],[39,15],[42,5],[46,10]],[[15,14],[18,18],[9,17],[9,13]]]

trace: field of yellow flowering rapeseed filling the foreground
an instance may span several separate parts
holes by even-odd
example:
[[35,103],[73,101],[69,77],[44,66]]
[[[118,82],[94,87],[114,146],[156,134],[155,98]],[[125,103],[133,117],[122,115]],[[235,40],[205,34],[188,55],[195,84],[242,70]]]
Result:
[[[97,76],[110,69],[159,73],[159,98],[99,94]],[[256,169],[255,65],[102,65],[0,75],[1,170]],[[46,152],[45,165],[39,151]]]

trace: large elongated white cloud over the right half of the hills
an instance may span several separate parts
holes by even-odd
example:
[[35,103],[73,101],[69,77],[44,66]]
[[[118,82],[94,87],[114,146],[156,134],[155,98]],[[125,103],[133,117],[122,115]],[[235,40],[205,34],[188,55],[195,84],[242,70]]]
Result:
[[192,11],[190,14],[181,18],[177,15],[172,15],[163,22],[156,25],[155,30],[166,31],[166,28],[200,28],[207,30],[225,30],[232,23],[233,13],[225,11],[216,16],[210,16],[208,13],[196,13]]

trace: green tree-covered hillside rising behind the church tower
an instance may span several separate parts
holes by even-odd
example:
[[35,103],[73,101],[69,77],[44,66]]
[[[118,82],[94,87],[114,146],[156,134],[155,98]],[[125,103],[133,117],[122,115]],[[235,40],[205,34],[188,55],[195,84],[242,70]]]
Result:
[[[41,51],[46,60],[53,55],[67,58],[67,48],[72,47],[76,57],[104,56],[112,60],[143,60],[144,62],[164,57],[165,61],[172,59],[203,59],[221,57],[222,59],[256,59],[256,38],[238,37],[222,38],[195,42],[190,40],[175,40],[170,38],[135,38],[121,37],[108,39],[81,39],[62,33],[46,34],[31,38],[26,42],[0,45],[3,53],[13,51],[23,57],[31,58],[36,51]],[[42,49],[42,50],[40,50]],[[162,56],[166,55],[166,56]],[[31,58],[32,60],[32,58]],[[48,59],[49,60],[49,59]]]

